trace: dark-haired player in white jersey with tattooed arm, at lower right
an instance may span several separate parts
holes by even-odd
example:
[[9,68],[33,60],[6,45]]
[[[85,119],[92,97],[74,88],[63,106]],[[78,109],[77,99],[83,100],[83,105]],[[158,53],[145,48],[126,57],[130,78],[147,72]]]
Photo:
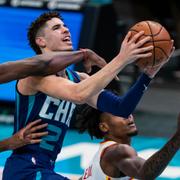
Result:
[[137,134],[132,115],[123,118],[87,106],[76,122],[81,133],[104,140],[81,180],[154,180],[180,148],[180,115],[176,133],[147,160],[131,146],[131,137]]

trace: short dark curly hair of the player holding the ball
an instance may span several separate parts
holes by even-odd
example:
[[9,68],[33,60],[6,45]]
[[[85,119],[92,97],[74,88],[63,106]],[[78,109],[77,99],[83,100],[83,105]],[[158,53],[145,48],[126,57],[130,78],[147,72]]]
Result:
[[45,23],[52,18],[59,18],[61,20],[62,17],[57,11],[49,11],[41,14],[36,20],[34,20],[29,28],[28,28],[28,40],[31,48],[36,52],[36,54],[42,54],[40,47],[36,44],[36,36],[37,33],[44,27]]

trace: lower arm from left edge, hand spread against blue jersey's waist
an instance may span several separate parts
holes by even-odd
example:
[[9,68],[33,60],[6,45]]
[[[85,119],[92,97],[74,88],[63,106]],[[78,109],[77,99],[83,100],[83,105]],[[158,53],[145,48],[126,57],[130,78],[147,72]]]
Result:
[[48,132],[37,132],[47,127],[47,123],[39,124],[40,122],[41,120],[31,122],[25,128],[19,130],[10,138],[0,141],[0,152],[13,150],[27,144],[41,142],[41,137],[46,136]]

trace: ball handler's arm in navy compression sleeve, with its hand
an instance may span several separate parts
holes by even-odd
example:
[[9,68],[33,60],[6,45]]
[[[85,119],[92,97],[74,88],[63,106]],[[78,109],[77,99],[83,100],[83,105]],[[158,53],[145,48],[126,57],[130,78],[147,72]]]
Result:
[[[173,51],[174,48],[172,49],[172,53]],[[117,96],[112,92],[105,90],[97,93],[95,96],[92,96],[88,100],[88,104],[94,108],[98,108],[102,112],[109,112],[116,116],[128,118],[141,100],[144,92],[151,82],[151,79],[154,78],[161,67],[168,62],[170,57],[167,61],[163,61],[158,66],[144,69],[144,73],[141,74],[134,85],[123,96]]]

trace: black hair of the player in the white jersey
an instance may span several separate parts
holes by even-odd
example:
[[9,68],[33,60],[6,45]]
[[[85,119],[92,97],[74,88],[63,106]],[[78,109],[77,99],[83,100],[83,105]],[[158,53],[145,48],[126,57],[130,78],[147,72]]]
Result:
[[[113,80],[106,87],[106,89],[112,91],[117,95],[122,94],[120,83],[115,80]],[[91,139],[93,139],[93,137],[102,139],[105,135],[99,128],[102,114],[103,112],[101,112],[100,110],[92,108],[88,105],[81,105],[76,115],[75,128],[79,133],[84,133],[85,131],[87,131]]]

